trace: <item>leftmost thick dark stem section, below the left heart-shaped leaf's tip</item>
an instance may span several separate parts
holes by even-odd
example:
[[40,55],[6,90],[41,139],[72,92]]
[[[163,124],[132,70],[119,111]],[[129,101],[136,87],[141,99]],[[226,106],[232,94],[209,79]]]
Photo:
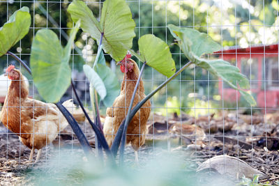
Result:
[[77,139],[80,141],[80,144],[82,145],[82,148],[84,150],[84,153],[91,152],[91,146],[89,145],[89,142],[87,141],[84,133],[80,129],[80,126],[77,124],[77,121],[75,121],[75,118],[70,114],[70,112],[61,104],[61,102],[55,103],[58,109],[61,111],[63,116],[65,116],[66,120],[72,127],[73,131],[77,135]]

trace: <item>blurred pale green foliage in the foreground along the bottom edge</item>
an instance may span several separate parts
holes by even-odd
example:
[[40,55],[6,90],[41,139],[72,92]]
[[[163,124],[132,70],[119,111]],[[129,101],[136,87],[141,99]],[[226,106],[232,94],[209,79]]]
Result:
[[84,161],[75,148],[61,149],[55,158],[42,164],[44,169],[33,169],[28,178],[32,178],[33,185],[236,185],[214,171],[197,173],[193,170],[194,161],[186,161],[185,151],[182,155],[150,153],[141,155],[139,166],[130,155],[126,166],[112,166],[109,162],[102,164],[96,157]]

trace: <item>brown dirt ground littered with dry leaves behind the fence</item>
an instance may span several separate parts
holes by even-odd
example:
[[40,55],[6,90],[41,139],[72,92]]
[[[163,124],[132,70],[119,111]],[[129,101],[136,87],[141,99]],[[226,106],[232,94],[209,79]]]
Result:
[[[149,134],[139,152],[140,160],[149,155],[182,152],[195,171],[202,162],[216,155],[230,155],[248,163],[265,174],[259,183],[276,185],[279,180],[279,114],[244,115],[235,112],[193,118],[165,117],[153,114],[149,118]],[[81,125],[92,147],[95,138],[88,123]],[[158,148],[160,147],[160,148]],[[67,127],[56,140],[43,148],[38,164],[27,163],[30,150],[22,145],[16,134],[0,125],[0,185],[32,185],[27,172],[36,169],[59,153],[60,148],[78,150],[75,134]],[[158,150],[160,149],[160,150]],[[134,160],[133,150],[126,149],[126,159]]]

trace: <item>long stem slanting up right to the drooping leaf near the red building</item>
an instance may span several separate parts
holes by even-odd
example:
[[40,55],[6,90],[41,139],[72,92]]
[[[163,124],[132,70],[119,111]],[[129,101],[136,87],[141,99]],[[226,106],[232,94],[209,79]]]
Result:
[[160,86],[158,86],[154,91],[152,91],[151,93],[149,93],[149,95],[146,95],[146,97],[141,100],[139,103],[137,103],[137,105],[134,107],[134,109],[131,111],[129,117],[128,115],[126,116],[126,118],[122,121],[119,129],[116,132],[116,137],[114,138],[113,144],[112,144],[112,153],[114,156],[116,156],[117,154],[117,150],[119,148],[119,144],[120,144],[120,140],[123,134],[123,128],[124,125],[126,123],[130,123],[130,121],[132,120],[133,116],[135,116],[135,114],[137,113],[137,111],[140,109],[140,107],[142,107],[142,105],[149,100],[154,94],[156,94],[158,91],[160,91],[161,88],[163,88],[164,86],[166,86],[172,79],[174,79],[176,76],[178,76],[183,70],[185,70],[189,65],[191,65],[192,62],[189,61],[188,63],[186,63],[186,65],[183,65],[183,67],[181,69],[179,69],[177,72],[175,72],[174,75],[172,75],[172,77],[169,77],[169,79],[167,79],[165,82],[163,82],[163,84],[160,84]]

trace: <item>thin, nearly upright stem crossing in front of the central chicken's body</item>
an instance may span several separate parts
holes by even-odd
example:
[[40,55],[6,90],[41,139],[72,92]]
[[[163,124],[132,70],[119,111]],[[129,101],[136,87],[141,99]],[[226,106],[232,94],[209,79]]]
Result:
[[[129,105],[128,113],[127,113],[126,117],[130,118],[130,113],[131,113],[133,103],[134,103],[134,100],[135,100],[135,93],[137,93],[137,88],[140,85],[140,80],[141,80],[142,72],[144,71],[145,65],[146,65],[146,62],[144,62],[144,64],[142,65],[142,69],[140,70],[140,75],[137,78],[137,84],[135,84],[135,89],[134,89],[132,98],[130,100],[130,105]],[[124,130],[123,130],[122,139],[121,139],[120,154],[119,154],[119,159],[120,159],[121,163],[123,163],[123,160],[124,160],[124,148],[125,148],[125,144],[126,144],[126,133],[127,133],[128,125],[129,125],[128,122],[130,122],[130,121],[128,121],[128,120],[125,121]]]

